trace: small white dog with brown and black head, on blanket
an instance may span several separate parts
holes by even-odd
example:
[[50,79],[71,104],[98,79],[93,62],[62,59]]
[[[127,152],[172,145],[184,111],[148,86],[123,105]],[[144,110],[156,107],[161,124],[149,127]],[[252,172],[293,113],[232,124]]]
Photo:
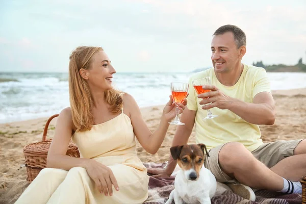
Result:
[[174,180],[174,190],[171,191],[166,203],[211,203],[216,193],[217,182],[210,170],[204,167],[204,155],[207,152],[205,144],[173,146],[171,155],[181,170]]

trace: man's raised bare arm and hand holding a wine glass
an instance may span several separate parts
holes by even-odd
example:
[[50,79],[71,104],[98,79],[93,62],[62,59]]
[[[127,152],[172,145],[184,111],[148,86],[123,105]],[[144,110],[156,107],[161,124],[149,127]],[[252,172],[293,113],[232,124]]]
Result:
[[228,109],[252,124],[274,124],[275,103],[270,92],[260,92],[254,96],[253,103],[246,103],[237,98],[225,95],[216,86],[205,86],[205,89],[212,91],[199,94],[199,98],[209,97],[201,100],[199,104],[211,104],[202,106],[202,109],[207,110],[213,107]]

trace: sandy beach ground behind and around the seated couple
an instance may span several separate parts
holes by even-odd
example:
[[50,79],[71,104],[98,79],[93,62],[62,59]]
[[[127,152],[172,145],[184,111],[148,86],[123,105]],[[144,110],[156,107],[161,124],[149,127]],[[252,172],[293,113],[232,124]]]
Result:
[[[276,120],[271,126],[261,125],[264,142],[306,138],[306,89],[273,91],[276,101]],[[142,108],[149,129],[159,125],[163,106]],[[54,113],[56,114],[56,113]],[[14,203],[28,186],[24,167],[24,145],[41,141],[46,120],[40,118],[0,124],[0,204]],[[48,138],[54,134],[56,118],[49,125]],[[137,143],[138,156],[143,162],[161,163],[168,160],[169,148],[176,130],[170,125],[165,140],[155,155],[150,155]],[[195,143],[194,131],[189,143]]]

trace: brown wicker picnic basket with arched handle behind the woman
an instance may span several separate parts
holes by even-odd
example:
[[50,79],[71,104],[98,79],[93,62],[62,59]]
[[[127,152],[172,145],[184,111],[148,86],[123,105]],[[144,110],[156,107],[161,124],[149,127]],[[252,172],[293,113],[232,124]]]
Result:
[[[52,139],[46,140],[48,126],[50,121],[57,116],[59,116],[59,114],[55,114],[47,120],[41,142],[31,143],[23,147],[25,167],[27,167],[28,175],[27,181],[29,183],[36,178],[41,169],[46,168],[48,150],[52,142]],[[71,140],[69,142],[66,155],[70,157],[80,157],[77,145],[75,145]]]

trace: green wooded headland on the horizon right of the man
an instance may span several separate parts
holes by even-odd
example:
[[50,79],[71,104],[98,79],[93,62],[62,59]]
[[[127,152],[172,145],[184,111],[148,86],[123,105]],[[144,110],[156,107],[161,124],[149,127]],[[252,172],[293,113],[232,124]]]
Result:
[[262,61],[252,64],[253,66],[263,67],[267,72],[306,72],[306,64],[303,64],[302,58],[298,60],[296,65],[273,64],[264,65]]

